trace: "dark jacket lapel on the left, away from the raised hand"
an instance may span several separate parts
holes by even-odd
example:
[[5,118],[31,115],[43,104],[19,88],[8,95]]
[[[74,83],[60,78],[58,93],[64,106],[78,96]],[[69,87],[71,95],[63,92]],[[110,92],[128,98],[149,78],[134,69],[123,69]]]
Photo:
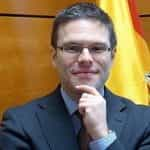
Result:
[[52,150],[78,150],[76,136],[60,91],[40,103],[37,117],[47,143]]

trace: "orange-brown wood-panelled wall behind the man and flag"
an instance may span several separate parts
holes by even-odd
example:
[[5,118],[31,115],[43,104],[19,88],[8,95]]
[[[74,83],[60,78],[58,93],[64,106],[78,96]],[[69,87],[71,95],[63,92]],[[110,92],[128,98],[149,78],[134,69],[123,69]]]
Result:
[[[9,107],[48,94],[58,84],[51,64],[50,34],[56,13],[79,1],[4,0],[0,2],[0,117]],[[137,0],[150,45],[150,5]]]

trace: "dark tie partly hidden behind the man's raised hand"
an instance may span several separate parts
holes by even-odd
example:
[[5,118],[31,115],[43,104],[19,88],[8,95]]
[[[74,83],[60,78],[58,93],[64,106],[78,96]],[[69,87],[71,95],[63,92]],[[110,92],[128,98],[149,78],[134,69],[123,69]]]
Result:
[[90,136],[88,135],[88,133],[84,127],[80,113],[77,111],[75,114],[81,120],[81,128],[80,128],[78,136],[77,136],[78,141],[79,141],[80,150],[88,150]]

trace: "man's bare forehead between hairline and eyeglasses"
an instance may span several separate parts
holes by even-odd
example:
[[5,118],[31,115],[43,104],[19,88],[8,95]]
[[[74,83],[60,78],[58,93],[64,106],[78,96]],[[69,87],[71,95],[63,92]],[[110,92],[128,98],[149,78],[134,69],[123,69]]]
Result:
[[105,43],[110,46],[109,32],[97,20],[78,19],[59,27],[57,44],[68,42]]

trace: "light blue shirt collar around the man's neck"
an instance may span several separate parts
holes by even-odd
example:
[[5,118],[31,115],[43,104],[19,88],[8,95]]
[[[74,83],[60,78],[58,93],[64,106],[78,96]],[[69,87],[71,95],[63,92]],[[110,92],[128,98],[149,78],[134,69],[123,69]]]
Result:
[[[101,95],[104,96],[104,88],[100,91]],[[75,100],[73,100],[61,87],[61,95],[63,97],[64,103],[67,107],[67,110],[70,115],[72,115],[77,109],[78,104]]]

